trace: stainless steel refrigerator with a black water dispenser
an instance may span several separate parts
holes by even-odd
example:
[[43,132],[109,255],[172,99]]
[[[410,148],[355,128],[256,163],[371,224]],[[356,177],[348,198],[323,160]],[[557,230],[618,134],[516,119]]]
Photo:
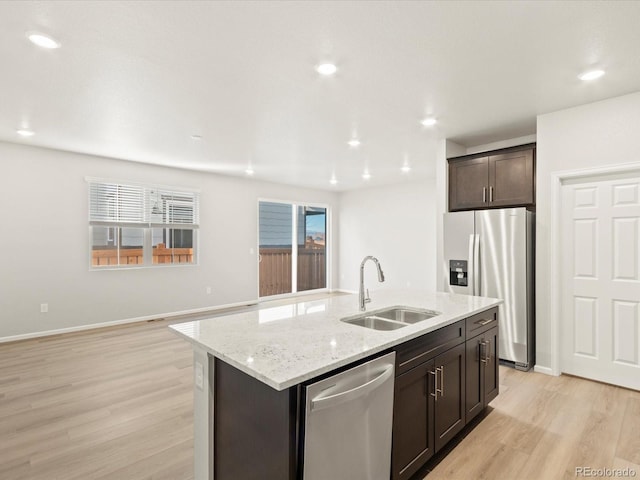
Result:
[[445,291],[504,300],[500,359],[520,370],[535,362],[534,225],[524,208],[444,214]]

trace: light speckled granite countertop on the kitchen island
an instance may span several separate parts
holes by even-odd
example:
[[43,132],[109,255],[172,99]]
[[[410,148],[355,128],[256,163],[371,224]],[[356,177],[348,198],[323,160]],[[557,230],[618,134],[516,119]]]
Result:
[[216,358],[284,390],[336,368],[450,325],[501,300],[418,290],[371,292],[367,311],[409,306],[440,315],[391,331],[350,325],[358,296],[303,298],[288,305],[171,325],[169,328]]

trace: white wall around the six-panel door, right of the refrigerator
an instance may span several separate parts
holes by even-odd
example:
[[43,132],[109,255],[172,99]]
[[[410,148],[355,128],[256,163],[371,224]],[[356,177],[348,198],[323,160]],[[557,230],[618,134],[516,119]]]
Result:
[[550,227],[554,172],[640,162],[640,92],[540,115],[537,125],[536,368],[551,369]]

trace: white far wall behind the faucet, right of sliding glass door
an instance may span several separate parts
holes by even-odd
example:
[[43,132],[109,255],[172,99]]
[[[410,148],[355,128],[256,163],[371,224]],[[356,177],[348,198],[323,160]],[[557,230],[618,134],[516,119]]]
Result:
[[388,288],[435,290],[435,181],[407,181],[340,194],[339,286],[357,291],[360,262],[380,260],[385,282],[373,264],[365,267],[372,292]]

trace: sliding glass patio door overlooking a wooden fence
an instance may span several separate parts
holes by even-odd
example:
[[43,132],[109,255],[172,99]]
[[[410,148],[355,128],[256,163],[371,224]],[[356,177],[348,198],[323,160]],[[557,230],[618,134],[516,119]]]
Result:
[[327,288],[327,209],[259,202],[261,297]]

